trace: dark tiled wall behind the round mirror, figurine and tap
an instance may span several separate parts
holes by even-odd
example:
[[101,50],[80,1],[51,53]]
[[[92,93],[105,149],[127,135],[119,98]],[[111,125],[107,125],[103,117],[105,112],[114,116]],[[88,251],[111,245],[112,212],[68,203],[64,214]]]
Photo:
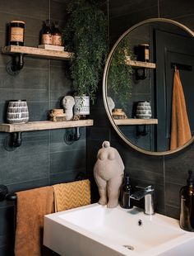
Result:
[[[111,44],[130,26],[158,17],[171,18],[182,22],[194,30],[194,2],[181,0],[110,0],[109,31]],[[156,211],[167,216],[179,217],[179,189],[186,184],[187,170],[194,169],[194,145],[169,156],[150,156],[141,154],[125,145],[110,125],[104,110],[104,103],[99,90],[99,98],[93,107],[95,127],[90,131],[87,145],[91,149],[87,154],[90,173],[95,164],[95,157],[103,140],[110,140],[111,145],[118,149],[125,164],[126,172],[130,173],[132,185],[154,185]],[[98,119],[98,120],[97,120]],[[95,145],[95,146],[94,146]],[[94,183],[95,199],[98,199]],[[142,202],[143,203],[143,202]]]

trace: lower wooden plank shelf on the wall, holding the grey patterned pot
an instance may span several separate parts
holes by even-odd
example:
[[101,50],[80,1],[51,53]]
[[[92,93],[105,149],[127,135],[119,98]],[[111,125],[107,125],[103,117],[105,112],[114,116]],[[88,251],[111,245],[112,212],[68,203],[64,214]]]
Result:
[[63,128],[93,126],[91,119],[79,121],[31,121],[25,124],[0,124],[0,131],[3,132],[22,132],[31,130],[54,130]]

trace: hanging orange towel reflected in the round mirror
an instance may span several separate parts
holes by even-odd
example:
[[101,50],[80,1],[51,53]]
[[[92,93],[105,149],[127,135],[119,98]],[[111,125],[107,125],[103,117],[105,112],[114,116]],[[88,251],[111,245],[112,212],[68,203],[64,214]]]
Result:
[[192,133],[187,117],[184,92],[178,69],[175,68],[173,77],[170,149],[177,149],[190,139],[192,139]]

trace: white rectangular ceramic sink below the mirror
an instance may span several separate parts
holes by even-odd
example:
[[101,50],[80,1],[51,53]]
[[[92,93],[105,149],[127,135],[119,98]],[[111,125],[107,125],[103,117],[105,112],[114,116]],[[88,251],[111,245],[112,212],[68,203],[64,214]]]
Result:
[[44,245],[62,256],[193,256],[194,233],[139,208],[92,204],[45,216]]

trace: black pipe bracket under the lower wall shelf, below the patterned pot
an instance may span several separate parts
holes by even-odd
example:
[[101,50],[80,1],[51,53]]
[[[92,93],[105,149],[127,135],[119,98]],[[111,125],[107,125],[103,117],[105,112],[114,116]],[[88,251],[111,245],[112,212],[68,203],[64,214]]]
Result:
[[12,132],[4,140],[4,149],[7,151],[14,151],[16,148],[21,146],[21,131],[18,132]]

